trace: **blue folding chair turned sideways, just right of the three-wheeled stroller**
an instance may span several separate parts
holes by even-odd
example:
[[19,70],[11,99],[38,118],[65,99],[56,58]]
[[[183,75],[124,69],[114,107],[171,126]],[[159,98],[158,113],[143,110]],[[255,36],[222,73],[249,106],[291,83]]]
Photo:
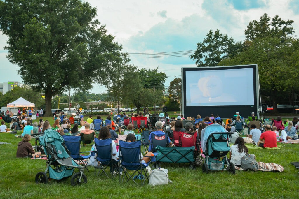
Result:
[[81,137],[80,136],[69,136],[69,135],[63,135],[62,136],[65,142],[66,147],[71,152],[71,157],[74,160],[78,160],[87,171],[89,171],[86,167],[87,161],[84,163],[83,160],[87,160],[91,157],[91,155],[80,155],[80,153],[84,152],[90,152],[90,151],[84,151],[80,152],[80,143],[81,143]]

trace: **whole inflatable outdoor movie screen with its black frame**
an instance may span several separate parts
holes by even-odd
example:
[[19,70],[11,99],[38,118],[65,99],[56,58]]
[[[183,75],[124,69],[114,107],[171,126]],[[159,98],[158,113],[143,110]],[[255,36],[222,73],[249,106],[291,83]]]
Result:
[[258,104],[257,65],[182,68],[184,116],[218,114],[232,117],[236,111],[245,118]]

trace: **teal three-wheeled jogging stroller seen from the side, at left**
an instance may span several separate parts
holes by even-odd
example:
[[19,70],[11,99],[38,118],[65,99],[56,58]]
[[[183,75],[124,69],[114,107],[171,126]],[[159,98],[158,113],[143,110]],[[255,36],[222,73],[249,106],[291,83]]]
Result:
[[77,164],[70,156],[70,151],[66,148],[62,136],[53,129],[47,129],[44,135],[39,137],[39,144],[44,146],[47,155],[47,168],[45,172],[39,172],[35,176],[36,183],[48,183],[49,178],[62,180],[73,175],[74,169],[80,172],[75,173],[71,178],[71,185],[87,183],[86,175],[83,174],[84,167]]

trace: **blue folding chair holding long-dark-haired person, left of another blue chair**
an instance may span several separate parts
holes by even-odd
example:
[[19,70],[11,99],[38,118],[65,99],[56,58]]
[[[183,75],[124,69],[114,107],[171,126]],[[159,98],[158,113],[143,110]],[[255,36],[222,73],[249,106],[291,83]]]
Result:
[[99,166],[100,170],[97,173],[97,176],[99,176],[100,171],[102,171],[100,176],[104,173],[106,177],[109,178],[105,172],[106,168],[110,166],[110,170],[112,171],[114,171],[114,168],[118,168],[117,163],[115,163],[115,161],[112,159],[112,139],[109,138],[105,140],[99,140],[97,138],[94,138],[94,148],[96,149],[96,151],[94,151],[94,175],[96,169],[95,161],[97,160],[101,163],[101,165]]

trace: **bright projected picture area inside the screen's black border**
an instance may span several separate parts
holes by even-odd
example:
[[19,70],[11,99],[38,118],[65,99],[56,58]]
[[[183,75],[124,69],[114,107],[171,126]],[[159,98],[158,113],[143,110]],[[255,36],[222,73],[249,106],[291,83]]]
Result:
[[253,69],[186,71],[187,106],[253,105]]

